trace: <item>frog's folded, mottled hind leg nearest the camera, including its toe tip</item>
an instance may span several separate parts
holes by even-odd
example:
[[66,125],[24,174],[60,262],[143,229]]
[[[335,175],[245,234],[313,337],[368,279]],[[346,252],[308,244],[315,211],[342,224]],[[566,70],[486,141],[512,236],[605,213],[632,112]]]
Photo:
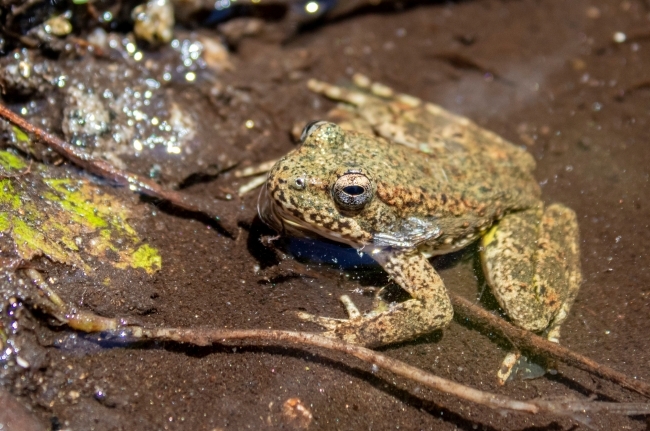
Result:
[[[517,326],[546,331],[559,342],[560,325],[580,288],[578,223],[573,210],[550,205],[506,215],[482,239],[485,277]],[[518,359],[509,354],[498,377],[505,383]]]

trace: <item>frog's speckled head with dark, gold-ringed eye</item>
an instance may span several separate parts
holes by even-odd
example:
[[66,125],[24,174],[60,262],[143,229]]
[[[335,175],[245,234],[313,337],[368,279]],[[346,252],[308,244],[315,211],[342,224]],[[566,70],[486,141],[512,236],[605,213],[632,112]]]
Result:
[[359,247],[372,235],[356,216],[375,195],[371,174],[357,166],[350,135],[338,125],[307,124],[301,145],[269,172],[258,200],[260,218],[280,232],[316,233]]

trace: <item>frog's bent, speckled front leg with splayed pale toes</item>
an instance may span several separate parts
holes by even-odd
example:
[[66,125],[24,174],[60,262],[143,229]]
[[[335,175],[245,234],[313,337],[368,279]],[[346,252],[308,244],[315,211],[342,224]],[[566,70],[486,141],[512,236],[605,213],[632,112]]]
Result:
[[361,315],[349,298],[344,297],[350,317],[347,320],[307,313],[299,313],[299,317],[325,327],[327,336],[369,347],[409,340],[449,323],[454,313],[449,296],[442,279],[423,254],[417,250],[393,250],[374,257],[411,299],[391,304],[387,310]]

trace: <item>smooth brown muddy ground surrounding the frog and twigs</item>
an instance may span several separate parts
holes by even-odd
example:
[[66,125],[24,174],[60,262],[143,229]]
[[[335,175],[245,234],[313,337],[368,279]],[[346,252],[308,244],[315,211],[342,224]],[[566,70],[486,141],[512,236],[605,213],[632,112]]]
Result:
[[[625,40],[618,35],[615,41],[617,32]],[[526,146],[537,160],[544,200],[570,206],[580,221],[584,283],[563,326],[562,343],[650,380],[647,2],[478,0],[367,11],[285,44],[276,38],[244,39],[231,61],[234,70],[219,79],[244,93],[246,103],[219,105],[219,99],[180,92],[204,112],[195,114],[199,123],[208,122],[195,140],[215,161],[225,154],[245,166],[286,153],[295,145],[294,124],[323,117],[333,106],[310,94],[306,80],[345,82],[357,72]],[[254,121],[253,128],[245,127],[247,120]],[[211,132],[213,124],[222,126]],[[186,191],[221,196],[240,183],[225,174]],[[256,193],[238,207],[236,239],[205,220],[158,209],[126,190],[115,193],[155,213],[138,228],[160,251],[159,272],[137,272],[91,288],[79,271],[38,263],[60,281],[61,296],[104,316],[147,325],[313,331],[318,328],[301,323],[296,310],[344,317],[339,295],[383,282],[372,270],[351,273],[329,265],[312,264],[309,277],[283,272],[259,242],[272,232],[256,218]],[[475,251],[434,261],[448,288],[470,299],[481,289]],[[362,307],[370,305],[369,296],[352,295]],[[489,303],[486,297],[483,302]],[[50,327],[43,316],[27,313],[22,319],[22,336],[37,340],[42,349],[40,362],[25,372],[22,384],[16,381],[8,389],[54,429],[294,429],[281,414],[289,398],[299,398],[311,412],[312,430],[583,429],[570,419],[502,415],[312,348],[123,346]],[[455,320],[443,331],[382,351],[517,399],[593,395],[647,401],[562,365],[557,375],[499,387],[495,372],[507,347]],[[591,420],[602,430],[650,427],[644,417],[596,414]]]

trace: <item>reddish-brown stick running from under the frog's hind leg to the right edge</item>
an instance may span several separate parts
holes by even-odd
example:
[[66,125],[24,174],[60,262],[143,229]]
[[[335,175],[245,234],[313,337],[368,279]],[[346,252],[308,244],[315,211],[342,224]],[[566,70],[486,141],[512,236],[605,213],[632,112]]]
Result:
[[565,364],[572,365],[581,370],[588,371],[599,377],[610,380],[625,388],[638,392],[641,395],[650,397],[650,385],[647,383],[631,379],[623,373],[613,370],[605,365],[601,365],[586,356],[567,349],[566,347],[562,347],[557,343],[552,343],[545,338],[533,334],[532,332],[517,328],[465,298],[457,295],[450,296],[456,312],[471,317],[471,320],[474,323],[480,323],[500,331],[516,347],[530,350],[533,353],[564,362]]

